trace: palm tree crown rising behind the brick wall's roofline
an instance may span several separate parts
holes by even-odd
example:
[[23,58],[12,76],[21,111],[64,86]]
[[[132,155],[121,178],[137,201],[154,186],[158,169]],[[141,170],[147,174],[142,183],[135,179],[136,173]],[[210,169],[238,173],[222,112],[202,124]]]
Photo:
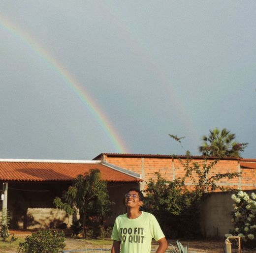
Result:
[[248,145],[235,141],[235,134],[230,133],[226,128],[222,130],[214,128],[209,132],[209,136],[202,137],[203,145],[199,146],[199,151],[204,156],[240,157],[240,152],[243,152]]

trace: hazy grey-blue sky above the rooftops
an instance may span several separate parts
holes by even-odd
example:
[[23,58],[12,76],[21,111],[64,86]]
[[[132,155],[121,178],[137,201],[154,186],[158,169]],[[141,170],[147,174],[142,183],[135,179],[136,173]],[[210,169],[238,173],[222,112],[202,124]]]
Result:
[[256,158],[255,10],[255,0],[0,1],[0,158],[184,154],[168,134],[198,155],[214,127]]

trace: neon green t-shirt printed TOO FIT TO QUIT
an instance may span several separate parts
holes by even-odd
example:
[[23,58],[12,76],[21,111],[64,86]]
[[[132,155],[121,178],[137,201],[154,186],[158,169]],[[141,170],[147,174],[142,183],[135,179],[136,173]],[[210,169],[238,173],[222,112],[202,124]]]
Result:
[[160,225],[153,214],[142,212],[136,219],[127,214],[116,218],[111,239],[121,241],[121,253],[150,253],[151,241],[164,237]]

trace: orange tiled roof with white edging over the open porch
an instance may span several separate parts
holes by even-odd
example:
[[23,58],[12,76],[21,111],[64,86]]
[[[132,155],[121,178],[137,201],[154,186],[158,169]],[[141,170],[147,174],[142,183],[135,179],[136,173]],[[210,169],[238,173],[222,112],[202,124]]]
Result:
[[99,169],[101,178],[115,182],[139,182],[139,174],[101,161],[0,160],[0,180],[69,181],[79,174]]

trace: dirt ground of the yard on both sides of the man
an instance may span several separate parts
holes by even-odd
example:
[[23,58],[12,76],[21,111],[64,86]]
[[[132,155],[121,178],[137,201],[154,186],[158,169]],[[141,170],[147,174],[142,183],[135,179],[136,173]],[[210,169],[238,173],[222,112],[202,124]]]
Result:
[[[25,238],[27,235],[31,235],[33,230],[10,230],[10,233],[14,233],[16,237]],[[168,240],[172,245],[176,245],[176,240]],[[224,253],[224,241],[210,241],[210,240],[180,240],[180,242],[187,246],[189,245],[189,253]],[[65,239],[66,247],[64,252],[71,253],[72,251],[78,252],[77,250],[88,250],[88,249],[111,249],[112,241],[111,240],[93,240],[93,239],[83,239],[81,237],[66,237]],[[152,243],[152,250],[157,248],[156,243]],[[2,252],[0,250],[0,252]],[[10,253],[11,251],[9,251]],[[85,251],[79,251],[85,252]],[[87,251],[88,252],[88,251]],[[101,252],[101,251],[92,251],[92,252]],[[104,251],[106,252],[106,251]],[[236,253],[236,250],[233,250],[232,253]],[[256,251],[246,251],[243,250],[243,253],[256,253]]]

